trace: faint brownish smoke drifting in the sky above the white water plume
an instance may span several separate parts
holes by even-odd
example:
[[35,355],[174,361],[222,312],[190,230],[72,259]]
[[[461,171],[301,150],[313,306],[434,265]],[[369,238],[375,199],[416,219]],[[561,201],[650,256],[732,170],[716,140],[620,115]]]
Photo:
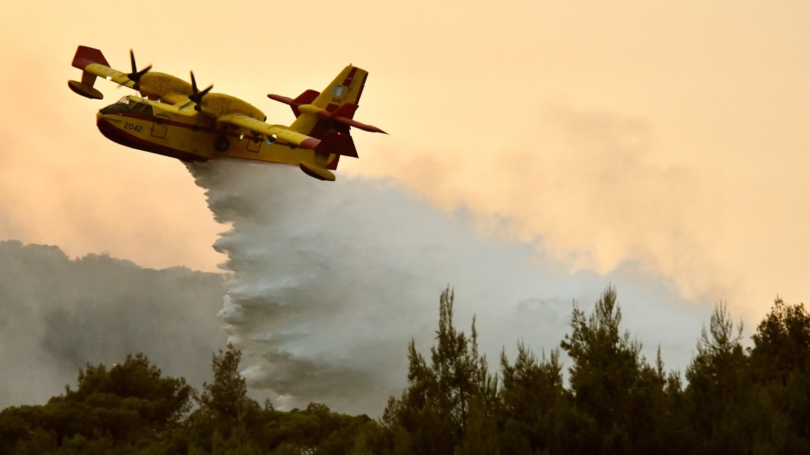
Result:
[[687,296],[738,297],[733,268],[714,251],[725,234],[725,187],[661,150],[652,121],[547,103],[523,134],[478,147],[475,159],[467,149],[373,155],[373,174],[439,206],[467,206],[507,236],[540,240],[540,251],[570,270],[608,273],[629,260],[671,277]]

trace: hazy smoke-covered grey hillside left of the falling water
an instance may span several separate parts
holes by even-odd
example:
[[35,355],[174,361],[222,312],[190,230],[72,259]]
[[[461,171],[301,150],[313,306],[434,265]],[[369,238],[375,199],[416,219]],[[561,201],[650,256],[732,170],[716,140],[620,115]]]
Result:
[[143,352],[196,388],[224,346],[221,274],[144,269],[55,246],[0,242],[0,409],[44,403],[85,364]]

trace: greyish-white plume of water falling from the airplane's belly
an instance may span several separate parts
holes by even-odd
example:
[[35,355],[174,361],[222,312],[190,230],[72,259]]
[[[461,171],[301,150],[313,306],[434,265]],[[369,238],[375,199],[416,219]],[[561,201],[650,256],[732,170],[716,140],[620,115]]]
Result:
[[379,415],[407,381],[411,337],[421,351],[432,344],[448,283],[456,325],[468,332],[477,313],[492,370],[518,338],[535,351],[556,347],[572,300],[590,308],[608,282],[633,334],[652,350],[663,344],[673,368],[684,367],[704,320],[705,310],[672,305],[681,300],[672,287],[637,279],[632,265],[608,276],[557,273],[565,268],[534,246],[480,238],[463,211],[447,215],[386,181],[326,183],[237,161],[189,168],[215,219],[232,225],[215,243],[233,272],[225,330],[245,352],[249,386],[281,406],[317,401]]

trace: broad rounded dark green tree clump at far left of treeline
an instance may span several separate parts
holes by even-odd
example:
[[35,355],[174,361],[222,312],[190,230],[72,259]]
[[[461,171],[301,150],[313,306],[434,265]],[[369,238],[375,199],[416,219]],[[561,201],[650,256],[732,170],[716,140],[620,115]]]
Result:
[[0,413],[2,453],[108,453],[139,440],[168,440],[190,409],[185,380],[161,377],[143,354],[128,355],[109,371],[79,371],[79,387],[45,406]]

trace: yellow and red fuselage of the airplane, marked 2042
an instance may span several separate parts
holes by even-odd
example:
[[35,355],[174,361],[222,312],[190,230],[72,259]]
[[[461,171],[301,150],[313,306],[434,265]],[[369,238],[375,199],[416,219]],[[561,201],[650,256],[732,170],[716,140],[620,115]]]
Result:
[[[96,125],[113,142],[183,161],[216,158],[256,159],[298,165],[312,161],[315,152],[282,140],[255,134],[246,128],[220,125],[203,113],[181,114],[169,104],[137,96],[125,96],[100,109]],[[192,111],[193,112],[193,111]],[[263,115],[263,114],[262,114]],[[337,167],[338,155],[330,155],[326,168]]]

